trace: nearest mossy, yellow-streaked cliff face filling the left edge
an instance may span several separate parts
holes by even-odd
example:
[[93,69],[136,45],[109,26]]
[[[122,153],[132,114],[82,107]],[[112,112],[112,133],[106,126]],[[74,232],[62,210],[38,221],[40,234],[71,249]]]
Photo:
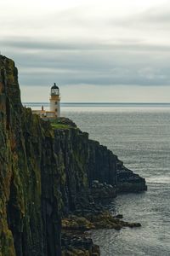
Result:
[[0,255],[59,255],[54,131],[21,107],[14,61],[0,67]]

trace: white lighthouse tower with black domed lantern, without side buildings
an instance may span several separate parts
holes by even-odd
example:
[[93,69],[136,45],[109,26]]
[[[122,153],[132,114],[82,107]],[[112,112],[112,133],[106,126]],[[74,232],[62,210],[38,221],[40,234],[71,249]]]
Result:
[[59,87],[54,83],[51,87],[50,93],[50,111],[54,112],[55,117],[60,117],[60,96],[59,96]]

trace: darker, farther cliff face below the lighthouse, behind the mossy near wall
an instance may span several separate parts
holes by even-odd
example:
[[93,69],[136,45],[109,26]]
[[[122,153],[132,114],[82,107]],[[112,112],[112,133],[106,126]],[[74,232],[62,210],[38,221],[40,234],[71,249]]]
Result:
[[77,128],[54,131],[54,151],[63,165],[60,191],[63,212],[88,208],[94,180],[116,185],[116,156]]

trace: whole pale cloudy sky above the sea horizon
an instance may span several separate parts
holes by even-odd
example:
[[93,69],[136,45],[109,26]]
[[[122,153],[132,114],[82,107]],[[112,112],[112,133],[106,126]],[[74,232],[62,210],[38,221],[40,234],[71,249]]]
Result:
[[5,0],[0,51],[22,102],[170,102],[170,1]]

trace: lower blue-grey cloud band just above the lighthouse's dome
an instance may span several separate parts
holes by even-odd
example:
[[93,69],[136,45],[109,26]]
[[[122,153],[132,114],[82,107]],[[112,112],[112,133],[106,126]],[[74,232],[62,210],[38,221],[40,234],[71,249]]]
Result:
[[[143,60],[144,61],[144,60]],[[83,60],[82,60],[83,62]],[[49,81],[56,81],[59,84],[139,84],[139,85],[169,85],[170,75],[168,70],[158,69],[158,67],[148,67],[145,68],[145,62],[135,65],[135,63],[123,62],[118,65],[111,65],[111,63],[103,63],[103,68],[97,68],[97,61],[94,66],[90,61],[88,63],[88,68],[81,69],[77,62],[77,67],[72,68],[71,63],[69,63],[68,70],[62,73],[59,71],[44,73],[43,70],[37,71],[33,75],[30,73],[20,73],[20,82],[23,84],[39,84],[45,85]],[[67,64],[65,63],[67,67]],[[41,69],[41,68],[40,68]],[[56,67],[57,69],[57,67]]]

